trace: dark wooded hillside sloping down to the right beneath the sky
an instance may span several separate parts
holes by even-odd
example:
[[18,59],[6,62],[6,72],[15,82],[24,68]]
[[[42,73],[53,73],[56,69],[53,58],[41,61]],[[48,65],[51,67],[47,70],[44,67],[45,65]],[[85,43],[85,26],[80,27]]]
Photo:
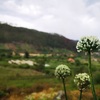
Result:
[[75,51],[75,46],[76,41],[59,34],[51,34],[0,23],[1,49],[41,51],[57,48]]

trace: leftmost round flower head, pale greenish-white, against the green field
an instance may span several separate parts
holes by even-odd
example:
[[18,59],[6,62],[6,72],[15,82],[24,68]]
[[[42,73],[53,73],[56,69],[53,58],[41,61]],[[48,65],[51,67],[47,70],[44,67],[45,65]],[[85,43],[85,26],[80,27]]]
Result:
[[60,79],[66,78],[67,76],[70,75],[70,73],[71,73],[71,71],[70,71],[69,67],[66,65],[63,65],[63,64],[58,65],[55,69],[55,76]]

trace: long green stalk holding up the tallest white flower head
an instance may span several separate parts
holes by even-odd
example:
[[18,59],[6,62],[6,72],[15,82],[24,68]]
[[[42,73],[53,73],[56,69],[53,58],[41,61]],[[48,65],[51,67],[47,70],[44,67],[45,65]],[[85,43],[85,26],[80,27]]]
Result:
[[93,98],[94,100],[97,100],[96,97],[96,92],[95,92],[95,88],[94,88],[94,81],[93,81],[93,75],[92,75],[92,70],[91,70],[91,52],[90,50],[88,51],[88,55],[89,55],[89,74],[90,74],[90,82],[91,82],[91,89],[92,89],[92,94],[93,94]]

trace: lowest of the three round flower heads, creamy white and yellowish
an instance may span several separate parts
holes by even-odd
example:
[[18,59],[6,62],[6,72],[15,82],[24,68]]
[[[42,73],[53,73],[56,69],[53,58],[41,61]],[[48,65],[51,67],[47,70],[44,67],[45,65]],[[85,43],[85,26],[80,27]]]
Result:
[[77,85],[79,90],[86,89],[90,86],[90,77],[87,73],[79,73],[75,76],[74,83]]

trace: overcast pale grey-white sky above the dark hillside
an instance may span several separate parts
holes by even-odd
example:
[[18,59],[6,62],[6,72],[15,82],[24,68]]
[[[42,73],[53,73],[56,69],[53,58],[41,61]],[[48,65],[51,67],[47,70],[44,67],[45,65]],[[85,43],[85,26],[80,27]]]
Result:
[[100,38],[100,0],[0,0],[0,21],[74,40]]

